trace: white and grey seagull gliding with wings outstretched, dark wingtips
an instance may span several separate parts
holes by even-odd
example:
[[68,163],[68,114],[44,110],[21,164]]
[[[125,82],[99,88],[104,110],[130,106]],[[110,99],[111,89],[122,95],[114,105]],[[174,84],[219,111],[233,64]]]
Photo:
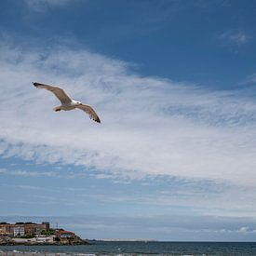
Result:
[[92,107],[89,105],[83,104],[80,101],[74,101],[69,98],[69,96],[65,93],[65,91],[62,88],[58,87],[52,87],[48,86],[45,84],[40,84],[40,83],[34,83],[32,82],[35,88],[45,88],[49,91],[51,91],[60,101],[61,101],[61,106],[55,107],[53,110],[54,111],[68,111],[68,110],[73,110],[75,108],[81,109],[84,112],[86,112],[90,119],[94,120],[95,122],[101,123],[101,120],[99,116],[96,114],[96,112],[93,110]]

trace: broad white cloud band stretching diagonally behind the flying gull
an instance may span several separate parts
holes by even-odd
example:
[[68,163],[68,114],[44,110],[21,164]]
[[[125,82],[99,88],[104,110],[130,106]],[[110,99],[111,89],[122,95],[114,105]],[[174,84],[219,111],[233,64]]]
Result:
[[[256,101],[240,92],[132,74],[87,50],[0,48],[0,152],[141,179],[144,175],[255,185]],[[98,125],[32,81],[91,104]],[[101,178],[101,177],[100,177]]]

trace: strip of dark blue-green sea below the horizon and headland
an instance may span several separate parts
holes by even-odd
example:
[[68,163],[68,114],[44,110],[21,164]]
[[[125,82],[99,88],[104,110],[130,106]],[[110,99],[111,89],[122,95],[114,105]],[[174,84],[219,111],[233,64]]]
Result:
[[[230,242],[92,242],[88,246],[1,246],[0,255],[54,253],[94,255],[256,255],[256,243]],[[1,253],[2,251],[2,253]],[[15,253],[13,253],[13,251]]]

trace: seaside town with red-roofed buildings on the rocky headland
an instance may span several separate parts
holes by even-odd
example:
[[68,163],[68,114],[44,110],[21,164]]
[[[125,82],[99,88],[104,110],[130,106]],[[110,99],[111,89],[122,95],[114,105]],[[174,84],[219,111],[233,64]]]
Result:
[[53,229],[49,222],[0,222],[0,245],[86,245],[74,232]]

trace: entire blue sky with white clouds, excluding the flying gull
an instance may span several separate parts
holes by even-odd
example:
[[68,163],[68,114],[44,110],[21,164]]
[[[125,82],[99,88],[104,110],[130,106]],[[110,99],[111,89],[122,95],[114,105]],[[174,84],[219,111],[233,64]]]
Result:
[[[254,241],[255,1],[0,3],[0,216],[88,238]],[[59,102],[31,82],[92,105]]]

